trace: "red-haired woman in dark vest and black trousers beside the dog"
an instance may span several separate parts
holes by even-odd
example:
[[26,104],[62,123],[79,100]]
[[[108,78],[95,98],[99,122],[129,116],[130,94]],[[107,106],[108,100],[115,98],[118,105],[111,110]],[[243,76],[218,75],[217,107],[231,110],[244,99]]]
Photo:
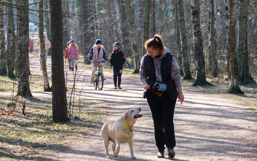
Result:
[[152,113],[157,157],[164,158],[166,145],[169,158],[174,158],[174,109],[177,97],[181,104],[184,101],[179,66],[160,35],[146,40],[144,47],[147,54],[141,59],[139,75]]

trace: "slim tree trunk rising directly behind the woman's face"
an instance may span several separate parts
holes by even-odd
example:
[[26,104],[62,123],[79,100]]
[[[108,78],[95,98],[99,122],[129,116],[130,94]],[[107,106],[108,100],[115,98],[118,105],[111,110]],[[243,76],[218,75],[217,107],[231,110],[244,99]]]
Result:
[[[143,44],[144,42],[149,38],[149,16],[150,16],[150,4],[151,0],[146,0],[145,5],[145,18],[144,18],[144,38],[143,38]],[[146,50],[143,47],[142,55],[146,54]]]

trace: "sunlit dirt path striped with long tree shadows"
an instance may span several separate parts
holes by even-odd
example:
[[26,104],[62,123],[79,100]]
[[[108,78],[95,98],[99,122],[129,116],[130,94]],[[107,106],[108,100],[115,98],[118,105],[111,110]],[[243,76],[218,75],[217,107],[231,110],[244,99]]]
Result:
[[[42,75],[37,64],[31,63],[30,68],[32,74]],[[136,160],[168,159],[167,148],[165,159],[156,156],[157,148],[151,112],[146,99],[142,97],[143,84],[139,78],[123,75],[122,89],[114,90],[112,72],[108,70],[104,72],[107,78],[104,81],[104,88],[95,90],[93,85],[85,83],[85,80],[90,78],[90,70],[79,68],[76,86],[82,89],[82,92],[76,91],[76,93],[80,94],[83,102],[89,102],[89,104],[81,103],[83,105],[81,110],[90,111],[90,103],[95,102],[98,107],[92,108],[92,112],[99,112],[102,117],[93,120],[94,123],[87,130],[80,133],[74,132],[74,135],[64,137],[59,143],[54,145],[49,143],[49,146],[44,146],[45,148],[40,149],[41,152],[37,156],[18,160],[108,160],[101,137],[102,125],[109,120],[118,120],[128,109],[138,107],[142,109],[143,117],[139,118],[134,125],[133,149]],[[73,76],[73,73],[69,71],[67,80],[72,82]],[[226,94],[226,89],[211,86],[193,87],[191,84],[192,82],[182,81],[185,101],[182,105],[178,100],[176,103],[174,113],[176,156],[171,160],[257,160],[257,117],[256,109],[254,109],[257,106],[256,101],[249,105],[245,95],[230,95]],[[52,99],[51,92],[33,93],[32,91],[32,95],[39,101],[51,102]],[[10,97],[10,92],[3,92],[1,97]],[[69,97],[68,94],[67,97]],[[257,100],[256,95],[250,100]],[[86,123],[83,118],[71,120],[71,122]],[[1,143],[5,145],[3,144],[4,138],[1,137],[3,136],[0,135],[0,145]],[[3,149],[0,148],[0,150]],[[111,144],[109,153],[112,160],[131,160],[128,143],[120,145],[119,157],[113,157]],[[0,154],[2,154],[1,151]],[[0,160],[16,159],[14,157],[1,159],[0,157]]]

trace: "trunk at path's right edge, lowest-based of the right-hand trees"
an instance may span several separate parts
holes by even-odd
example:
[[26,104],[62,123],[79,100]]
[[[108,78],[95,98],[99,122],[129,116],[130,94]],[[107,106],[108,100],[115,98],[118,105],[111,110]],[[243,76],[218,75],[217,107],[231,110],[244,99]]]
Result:
[[244,93],[239,88],[238,62],[236,57],[236,0],[229,0],[229,28],[227,50],[229,60],[229,90],[228,93]]

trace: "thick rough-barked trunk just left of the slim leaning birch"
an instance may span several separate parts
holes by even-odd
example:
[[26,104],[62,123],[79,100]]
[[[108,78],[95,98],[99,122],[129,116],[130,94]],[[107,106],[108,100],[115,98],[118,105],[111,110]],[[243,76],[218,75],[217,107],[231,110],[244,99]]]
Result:
[[28,1],[18,0],[22,7],[18,8],[19,12],[19,38],[17,50],[17,71],[18,71],[18,95],[24,97],[32,96],[29,87],[29,59],[28,59]]

